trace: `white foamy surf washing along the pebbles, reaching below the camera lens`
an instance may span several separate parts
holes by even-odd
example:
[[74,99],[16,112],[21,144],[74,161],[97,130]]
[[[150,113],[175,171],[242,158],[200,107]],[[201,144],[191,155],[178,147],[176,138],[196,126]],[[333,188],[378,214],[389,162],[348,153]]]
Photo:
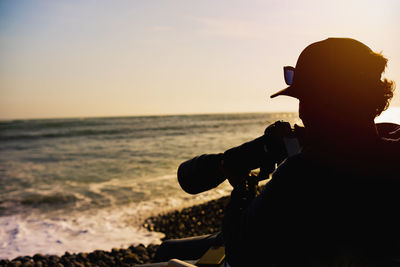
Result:
[[195,196],[182,193],[97,211],[3,216],[0,217],[0,259],[157,244],[164,235],[143,228],[146,218],[205,202],[227,194],[228,190],[225,185]]

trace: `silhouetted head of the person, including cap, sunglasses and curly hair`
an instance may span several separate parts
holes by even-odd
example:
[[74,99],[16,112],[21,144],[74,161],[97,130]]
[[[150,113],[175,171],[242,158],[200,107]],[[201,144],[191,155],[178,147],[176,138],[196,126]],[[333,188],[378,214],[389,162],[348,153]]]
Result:
[[273,94],[300,100],[306,121],[331,118],[373,120],[389,106],[394,83],[382,80],[387,59],[350,38],[328,38],[307,46],[296,68],[285,67],[289,87]]

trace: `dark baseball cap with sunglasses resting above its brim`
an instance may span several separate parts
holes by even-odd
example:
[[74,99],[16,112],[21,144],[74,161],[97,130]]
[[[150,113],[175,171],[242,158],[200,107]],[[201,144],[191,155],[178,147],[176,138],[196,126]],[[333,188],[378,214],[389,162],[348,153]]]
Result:
[[315,42],[301,52],[295,68],[284,67],[289,86],[271,98],[348,94],[359,82],[380,79],[382,71],[374,68],[374,57],[375,53],[368,46],[355,39],[328,38]]

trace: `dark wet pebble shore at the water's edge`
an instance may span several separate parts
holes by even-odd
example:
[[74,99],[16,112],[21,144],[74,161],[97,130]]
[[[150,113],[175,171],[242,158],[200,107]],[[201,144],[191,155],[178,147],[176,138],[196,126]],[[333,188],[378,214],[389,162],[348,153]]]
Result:
[[[222,197],[201,205],[192,206],[146,219],[143,227],[162,232],[165,239],[211,234],[221,230],[223,209],[229,197]],[[130,246],[111,251],[96,250],[91,253],[68,253],[63,256],[36,254],[13,260],[0,260],[0,266],[134,266],[150,263],[158,245]]]

